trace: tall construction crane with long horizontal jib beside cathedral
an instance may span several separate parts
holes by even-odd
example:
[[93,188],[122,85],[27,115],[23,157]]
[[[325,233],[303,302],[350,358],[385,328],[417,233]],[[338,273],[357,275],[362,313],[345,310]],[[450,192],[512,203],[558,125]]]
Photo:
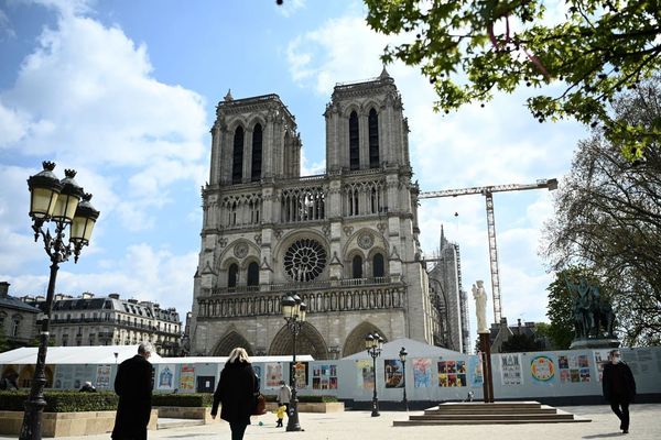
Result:
[[487,202],[487,230],[489,237],[489,264],[491,267],[491,292],[494,295],[494,321],[500,323],[502,306],[500,304],[500,277],[498,275],[498,249],[496,248],[496,222],[494,220],[494,193],[524,191],[527,189],[548,188],[550,191],[557,189],[557,179],[539,179],[534,184],[510,184],[476,186],[473,188],[445,189],[441,191],[423,191],[419,199],[434,199],[440,197],[469,196],[481,194]]

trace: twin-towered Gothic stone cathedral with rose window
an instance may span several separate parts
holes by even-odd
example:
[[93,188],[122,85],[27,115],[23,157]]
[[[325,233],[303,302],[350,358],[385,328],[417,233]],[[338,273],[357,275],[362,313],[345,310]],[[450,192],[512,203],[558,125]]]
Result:
[[[343,358],[364,350],[372,331],[466,351],[467,320],[449,310],[462,298],[465,308],[460,283],[443,282],[445,258],[430,288],[421,256],[402,110],[386,69],[337,85],[324,113],[326,173],[302,177],[295,118],[278,95],[228,92],[219,102],[202,194],[192,354],[235,346],[290,354],[280,302],[292,292],[307,306],[299,353]],[[449,307],[441,295],[453,297]]]

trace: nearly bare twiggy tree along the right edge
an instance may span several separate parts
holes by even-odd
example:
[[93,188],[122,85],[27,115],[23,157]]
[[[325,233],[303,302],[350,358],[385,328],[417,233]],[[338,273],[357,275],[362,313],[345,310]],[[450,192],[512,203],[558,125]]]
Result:
[[[661,119],[661,77],[617,99],[617,117]],[[559,271],[582,264],[611,292],[628,345],[661,342],[661,145],[630,162],[599,130],[578,145],[570,175],[554,195],[546,257]]]

